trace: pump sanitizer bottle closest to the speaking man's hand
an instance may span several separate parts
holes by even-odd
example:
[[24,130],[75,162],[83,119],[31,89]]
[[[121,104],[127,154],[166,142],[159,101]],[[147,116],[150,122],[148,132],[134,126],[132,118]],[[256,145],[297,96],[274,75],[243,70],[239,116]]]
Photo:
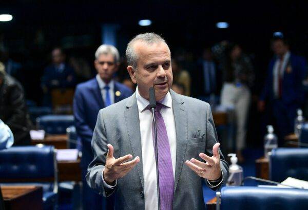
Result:
[[237,164],[236,154],[228,154],[231,160],[229,165],[229,177],[227,180],[227,186],[240,186],[243,181],[243,168]]

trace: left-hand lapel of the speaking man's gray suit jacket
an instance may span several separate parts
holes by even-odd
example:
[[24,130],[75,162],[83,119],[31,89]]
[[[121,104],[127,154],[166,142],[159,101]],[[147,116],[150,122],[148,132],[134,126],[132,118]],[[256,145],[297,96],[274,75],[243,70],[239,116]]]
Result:
[[140,122],[139,113],[136,99],[136,92],[129,98],[126,103],[128,108],[125,111],[125,122],[128,132],[128,138],[133,153],[133,157],[139,156],[140,163],[137,164],[137,170],[139,178],[141,180],[142,187],[144,189],[144,179],[143,179],[143,167],[142,167],[142,148],[141,148],[141,134],[140,134]]

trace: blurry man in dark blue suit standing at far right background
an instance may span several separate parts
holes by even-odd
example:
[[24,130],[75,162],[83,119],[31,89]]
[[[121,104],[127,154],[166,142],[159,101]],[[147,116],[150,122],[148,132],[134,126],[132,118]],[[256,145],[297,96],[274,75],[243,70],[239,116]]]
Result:
[[260,96],[258,108],[266,107],[273,114],[279,146],[283,145],[286,135],[294,132],[296,110],[304,102],[302,81],[306,74],[305,59],[289,51],[288,44],[283,37],[276,37],[272,41],[275,57],[268,66],[267,78]]

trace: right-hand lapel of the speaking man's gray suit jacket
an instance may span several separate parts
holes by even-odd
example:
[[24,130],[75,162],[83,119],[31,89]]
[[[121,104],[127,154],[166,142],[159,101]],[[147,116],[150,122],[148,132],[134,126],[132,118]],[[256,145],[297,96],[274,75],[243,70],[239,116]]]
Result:
[[185,152],[186,152],[186,139],[188,138],[188,117],[184,101],[181,96],[170,90],[172,97],[172,107],[176,122],[177,133],[177,160],[176,160],[176,173],[175,173],[175,191],[178,185],[180,174],[183,167]]

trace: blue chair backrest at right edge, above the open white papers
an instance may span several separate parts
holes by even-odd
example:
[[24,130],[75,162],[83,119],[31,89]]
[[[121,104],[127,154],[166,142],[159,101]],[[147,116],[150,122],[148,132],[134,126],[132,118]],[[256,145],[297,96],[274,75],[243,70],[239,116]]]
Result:
[[269,178],[282,182],[287,177],[308,181],[308,148],[277,148],[269,158]]

